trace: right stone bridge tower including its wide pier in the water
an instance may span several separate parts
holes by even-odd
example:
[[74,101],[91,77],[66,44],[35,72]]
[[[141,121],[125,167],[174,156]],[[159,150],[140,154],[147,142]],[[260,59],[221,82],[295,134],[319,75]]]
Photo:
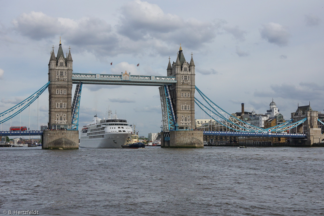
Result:
[[203,131],[195,127],[195,63],[188,63],[180,44],[176,62],[171,65],[170,58],[167,76],[176,77],[177,83],[170,87],[170,98],[175,110],[176,130],[169,131],[169,141],[162,140],[161,147],[203,148]]

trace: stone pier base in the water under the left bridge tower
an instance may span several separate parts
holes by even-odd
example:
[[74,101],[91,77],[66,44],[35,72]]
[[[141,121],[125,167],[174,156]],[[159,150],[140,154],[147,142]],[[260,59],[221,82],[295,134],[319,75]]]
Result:
[[42,149],[79,149],[79,131],[44,130]]

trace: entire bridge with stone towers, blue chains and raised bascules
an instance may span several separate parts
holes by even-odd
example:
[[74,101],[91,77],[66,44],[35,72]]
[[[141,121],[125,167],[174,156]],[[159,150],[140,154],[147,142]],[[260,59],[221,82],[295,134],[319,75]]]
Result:
[[[167,76],[121,74],[86,74],[73,72],[71,50],[64,52],[60,41],[57,55],[54,46],[49,61],[48,83],[26,100],[0,114],[0,125],[20,114],[48,88],[49,119],[44,131],[1,131],[0,136],[41,135],[43,149],[78,149],[78,119],[83,84],[158,86],[163,129],[162,148],[202,148],[203,135],[245,137],[287,137],[291,142],[312,145],[324,138],[317,122],[318,112],[309,106],[297,108],[291,119],[270,128],[260,128],[238,119],[212,102],[195,86],[195,64],[185,60],[181,44],[176,61],[167,66]],[[72,99],[72,87],[76,84]],[[195,97],[195,93],[197,97]],[[199,98],[202,99],[199,99]],[[202,102],[201,102],[202,101]],[[195,130],[195,105],[226,131]],[[289,131],[287,133],[286,131]]]

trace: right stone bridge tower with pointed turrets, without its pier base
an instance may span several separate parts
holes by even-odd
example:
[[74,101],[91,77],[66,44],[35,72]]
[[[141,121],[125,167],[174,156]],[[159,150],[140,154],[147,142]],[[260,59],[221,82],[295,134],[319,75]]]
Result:
[[176,62],[168,64],[167,76],[175,76],[177,83],[172,84],[170,96],[176,114],[178,129],[195,127],[195,64],[192,53],[190,63],[186,62],[180,44]]

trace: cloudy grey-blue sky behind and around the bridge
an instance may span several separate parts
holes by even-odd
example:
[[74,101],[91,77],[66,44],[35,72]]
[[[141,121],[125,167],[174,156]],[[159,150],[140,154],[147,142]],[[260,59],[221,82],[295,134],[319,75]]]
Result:
[[[245,111],[265,114],[272,98],[285,120],[298,104],[310,103],[323,113],[322,0],[0,0],[0,5],[0,113],[47,83],[50,52],[54,45],[57,54],[60,36],[64,54],[71,48],[77,73],[167,76],[168,58],[176,61],[181,43],[187,62],[193,54],[195,85],[228,113],[240,112],[245,103]],[[158,87],[83,85],[79,125],[107,109],[135,124],[139,135],[161,131]],[[204,118],[198,109],[195,118]],[[47,122],[45,90],[2,130],[10,124],[36,130]]]

